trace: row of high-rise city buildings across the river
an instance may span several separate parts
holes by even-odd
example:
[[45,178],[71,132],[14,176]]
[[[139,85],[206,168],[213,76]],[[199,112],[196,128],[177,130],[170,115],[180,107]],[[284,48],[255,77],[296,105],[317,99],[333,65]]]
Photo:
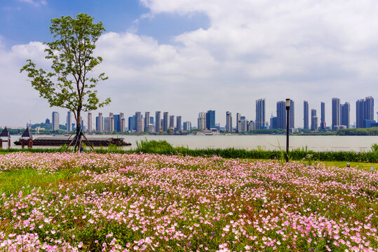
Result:
[[[262,99],[262,98],[256,100],[256,111],[259,111],[260,117],[264,117],[264,118],[267,117],[266,111],[262,109],[265,106],[265,102],[266,102],[266,99]],[[359,104],[362,104],[362,105],[359,105]],[[358,99],[356,101],[356,107],[358,106],[360,108],[360,111],[356,113],[355,115],[356,122],[351,124],[351,118],[353,118],[353,115],[351,115],[350,113],[351,111],[350,102],[345,102],[344,104],[342,104],[338,97],[333,97],[332,107],[330,111],[330,114],[332,116],[332,124],[328,124],[328,127],[330,127],[332,130],[338,130],[342,128],[350,128],[352,126],[353,127],[371,127],[372,124],[377,125],[375,123],[378,123],[378,118],[377,118],[377,122],[375,121],[375,118],[374,118],[374,115],[375,115],[374,98],[372,96],[369,96],[369,97],[365,97],[365,99]],[[326,122],[323,121],[323,118],[327,114],[325,112],[325,102],[320,102],[320,115],[317,115],[316,113],[317,109],[311,108],[311,115],[307,115],[307,118],[306,118],[306,112],[305,112],[305,111],[309,112],[309,106],[308,106],[307,101],[304,101],[303,107],[304,107],[304,113],[303,113],[302,122],[304,124],[302,126],[295,127],[295,128],[302,128],[306,130],[306,127],[305,127],[306,120],[309,120],[308,121],[309,129],[311,130],[315,130],[315,129],[322,130],[323,128],[325,128],[325,126],[327,125]],[[216,113],[215,110],[208,110],[207,112],[199,112],[196,128],[201,129],[201,130],[205,130],[205,129],[210,130],[211,128],[215,128],[215,125],[219,125],[217,126],[218,128],[219,127],[226,128],[226,130],[229,131],[229,128],[227,127],[227,123],[224,125],[219,123],[219,118],[216,119],[215,113]],[[56,117],[57,114],[58,114],[58,118]],[[294,114],[295,114],[295,101],[290,100],[290,128],[292,128],[292,120],[294,120]],[[53,115],[52,122],[60,120],[58,112],[54,111],[52,115]],[[66,118],[66,123],[65,123],[66,127],[67,125],[69,125],[68,122],[72,121],[72,118],[71,118],[72,116],[69,116],[69,115],[71,115],[71,112],[67,112],[67,118]],[[161,132],[166,132],[170,128],[176,129],[177,123],[179,122],[180,122],[179,129],[182,129],[183,127],[182,116],[170,115],[169,111],[163,111],[163,118],[161,120],[155,120],[153,116],[150,116],[149,111],[144,111],[144,118],[142,116],[142,112],[140,111],[135,112],[134,116],[129,116],[129,117],[126,113],[126,118],[124,116],[125,113],[119,113],[119,115],[115,115],[114,113],[110,112],[109,117],[104,117],[102,119],[102,124],[106,124],[107,126],[102,125],[101,127],[99,127],[100,120],[98,118],[102,117],[102,113],[98,113],[98,115],[99,116],[96,117],[95,124],[93,123],[91,125],[91,127],[93,129],[96,129],[97,131],[99,131],[99,129],[102,127],[102,130],[104,131],[114,131],[114,130],[120,131],[120,129],[127,128],[128,130],[137,130],[137,132],[142,132],[142,131],[152,132],[152,128],[149,127],[149,125],[152,125],[154,126],[154,131],[156,130],[156,128],[160,127]],[[161,115],[161,111],[155,111],[155,117],[160,117],[160,115]],[[87,116],[88,116],[88,122],[91,121],[92,112],[87,113]],[[313,118],[313,116],[315,116],[316,118]],[[358,124],[357,119],[359,117],[362,119],[360,119],[360,123]],[[222,118],[222,116],[220,118]],[[260,129],[260,128],[285,129],[285,124],[284,124],[284,122],[286,121],[285,102],[284,101],[276,102],[276,115],[274,117],[274,114],[271,113],[271,118],[265,121],[265,124],[264,124],[265,126],[261,126],[261,125],[256,126],[255,120],[252,120],[252,118],[248,118],[248,116],[242,116],[241,113],[238,113],[238,112],[236,112],[236,118],[234,118],[235,123],[232,122],[233,121],[232,113],[229,111],[227,111],[226,113],[225,120],[227,120],[227,118],[230,118],[232,128],[238,132],[241,132],[241,129],[244,129],[244,130]],[[48,120],[48,118],[46,118],[46,120]],[[367,121],[365,122],[365,120]],[[186,123],[187,120],[183,122]],[[161,126],[158,125],[159,123]],[[242,123],[242,125],[240,123]],[[363,125],[361,126],[361,124]],[[74,123],[72,123],[72,127],[74,127],[73,125]],[[84,123],[83,125],[86,125],[86,127],[88,127],[88,123]],[[128,125],[128,127],[126,127],[126,125]],[[133,125],[133,126],[130,127],[130,125]]]

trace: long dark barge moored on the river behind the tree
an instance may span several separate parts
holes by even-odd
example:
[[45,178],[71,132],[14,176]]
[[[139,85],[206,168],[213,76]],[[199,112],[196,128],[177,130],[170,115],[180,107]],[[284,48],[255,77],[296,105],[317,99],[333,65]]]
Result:
[[[123,138],[119,137],[96,137],[96,136],[88,136],[86,138],[93,146],[109,146],[110,144],[114,144],[115,146],[130,146],[130,143],[126,143]],[[53,136],[53,137],[37,137],[33,139],[33,146],[63,146],[68,145],[74,136]],[[85,139],[82,138],[81,141],[86,143]],[[22,145],[21,140],[15,141],[15,145],[20,146]]]

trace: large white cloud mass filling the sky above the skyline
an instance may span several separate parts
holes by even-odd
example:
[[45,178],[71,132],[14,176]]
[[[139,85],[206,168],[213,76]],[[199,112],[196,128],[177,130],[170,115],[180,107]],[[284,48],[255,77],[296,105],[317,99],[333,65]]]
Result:
[[[107,73],[109,80],[99,92],[113,99],[102,112],[169,111],[195,124],[198,112],[216,109],[223,125],[225,111],[254,120],[255,99],[265,97],[269,117],[276,113],[276,101],[291,97],[295,124],[302,126],[304,99],[310,109],[326,102],[330,124],[330,101],[340,97],[351,102],[353,123],[356,99],[378,91],[377,1],[141,2],[151,10],[141,18],[152,22],[160,13],[204,13],[210,27],[180,34],[172,45],[130,29],[102,35],[96,53],[104,62],[98,71]],[[28,90],[20,94],[21,86],[12,87],[11,97],[46,104],[18,73],[27,58],[43,62],[43,45],[31,42],[0,51],[0,73]],[[35,117],[45,118],[42,113],[46,111],[39,110]]]

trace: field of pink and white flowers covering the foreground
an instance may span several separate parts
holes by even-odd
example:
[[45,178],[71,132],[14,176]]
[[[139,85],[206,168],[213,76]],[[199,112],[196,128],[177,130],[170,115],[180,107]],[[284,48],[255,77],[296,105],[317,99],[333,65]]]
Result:
[[[38,187],[23,184],[27,172]],[[0,184],[0,251],[378,251],[377,172],[9,153],[0,175],[17,188]]]

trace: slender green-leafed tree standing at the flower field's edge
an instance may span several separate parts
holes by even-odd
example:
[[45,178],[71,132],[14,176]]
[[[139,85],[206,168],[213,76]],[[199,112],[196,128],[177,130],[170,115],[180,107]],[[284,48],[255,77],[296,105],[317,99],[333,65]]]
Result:
[[93,23],[93,17],[80,13],[51,20],[50,32],[55,41],[46,45],[46,59],[51,64],[51,72],[36,69],[36,64],[27,59],[20,71],[27,71],[32,86],[40,97],[48,100],[50,106],[58,106],[72,111],[76,120],[76,146],[81,147],[81,112],[93,111],[111,102],[110,98],[100,102],[95,87],[106,80],[104,73],[95,77],[93,69],[102,62],[95,57],[95,43],[104,31],[102,22]]

